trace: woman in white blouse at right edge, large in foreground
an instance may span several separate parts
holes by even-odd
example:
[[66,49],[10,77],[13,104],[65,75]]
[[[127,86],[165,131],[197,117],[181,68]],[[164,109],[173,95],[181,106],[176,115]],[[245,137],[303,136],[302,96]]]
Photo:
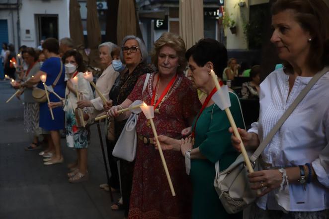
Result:
[[[255,150],[301,90],[329,65],[329,8],[323,0],[278,0],[271,42],[284,68],[260,84],[259,121],[240,134]],[[248,175],[262,193],[250,219],[329,218],[329,72],[313,86],[261,154],[261,171]],[[230,128],[232,132],[232,128]],[[240,141],[232,136],[240,150]],[[283,173],[288,183],[280,189]],[[284,214],[287,213],[287,214]]]

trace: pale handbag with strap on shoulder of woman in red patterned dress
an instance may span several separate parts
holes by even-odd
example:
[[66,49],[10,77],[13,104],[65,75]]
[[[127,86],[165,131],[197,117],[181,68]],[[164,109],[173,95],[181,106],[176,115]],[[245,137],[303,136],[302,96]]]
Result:
[[[146,74],[142,94],[146,89],[150,75],[151,74],[149,73]],[[127,160],[129,162],[135,159],[136,149],[137,149],[137,133],[136,133],[137,120],[138,120],[138,114],[132,113],[129,116],[120,134],[120,137],[113,148],[112,151],[113,156]]]

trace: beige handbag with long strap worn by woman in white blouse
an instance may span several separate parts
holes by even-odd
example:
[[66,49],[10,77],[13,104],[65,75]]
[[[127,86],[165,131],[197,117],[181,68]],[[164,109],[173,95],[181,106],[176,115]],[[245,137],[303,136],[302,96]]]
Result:
[[[329,68],[326,67],[322,70],[322,72],[313,76],[311,81],[289,106],[287,111],[279,119],[279,121],[262,141],[262,143],[258,146],[258,148],[254,151],[254,153],[248,154],[250,162],[253,165],[255,171],[258,170],[257,159],[261,152],[271,142],[275,133],[279,130],[289,115],[294,111],[300,101],[302,101],[302,99],[313,87],[313,85],[322,75],[328,71]],[[250,189],[249,181],[247,179],[248,171],[242,154],[240,154],[234,163],[232,163],[226,170],[220,172],[219,161],[216,162],[215,169],[216,177],[214,181],[214,187],[227,213],[238,213],[256,200],[257,195],[255,190]]]

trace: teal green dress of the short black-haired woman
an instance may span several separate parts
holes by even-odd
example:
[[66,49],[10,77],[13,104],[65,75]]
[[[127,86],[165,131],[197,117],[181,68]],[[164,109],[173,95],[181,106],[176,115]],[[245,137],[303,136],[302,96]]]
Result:
[[[237,126],[245,127],[238,96],[230,92],[230,100],[230,110]],[[195,120],[192,127],[194,123]],[[226,213],[214,188],[215,162],[219,160],[220,170],[224,170],[238,156],[238,152],[231,145],[231,133],[228,131],[230,126],[225,111],[216,104],[206,107],[198,119],[194,148],[199,147],[206,159],[191,159],[192,219],[241,217],[241,215]]]

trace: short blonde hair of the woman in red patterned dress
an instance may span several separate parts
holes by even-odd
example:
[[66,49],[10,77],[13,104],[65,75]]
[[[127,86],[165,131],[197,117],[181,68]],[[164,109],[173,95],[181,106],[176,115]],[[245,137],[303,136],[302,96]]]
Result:
[[151,61],[158,68],[158,56],[160,50],[164,46],[169,46],[174,49],[178,56],[178,68],[177,73],[183,73],[187,66],[186,58],[185,58],[185,43],[184,40],[173,33],[165,32],[161,35],[161,37],[154,43],[154,47],[151,52]]

